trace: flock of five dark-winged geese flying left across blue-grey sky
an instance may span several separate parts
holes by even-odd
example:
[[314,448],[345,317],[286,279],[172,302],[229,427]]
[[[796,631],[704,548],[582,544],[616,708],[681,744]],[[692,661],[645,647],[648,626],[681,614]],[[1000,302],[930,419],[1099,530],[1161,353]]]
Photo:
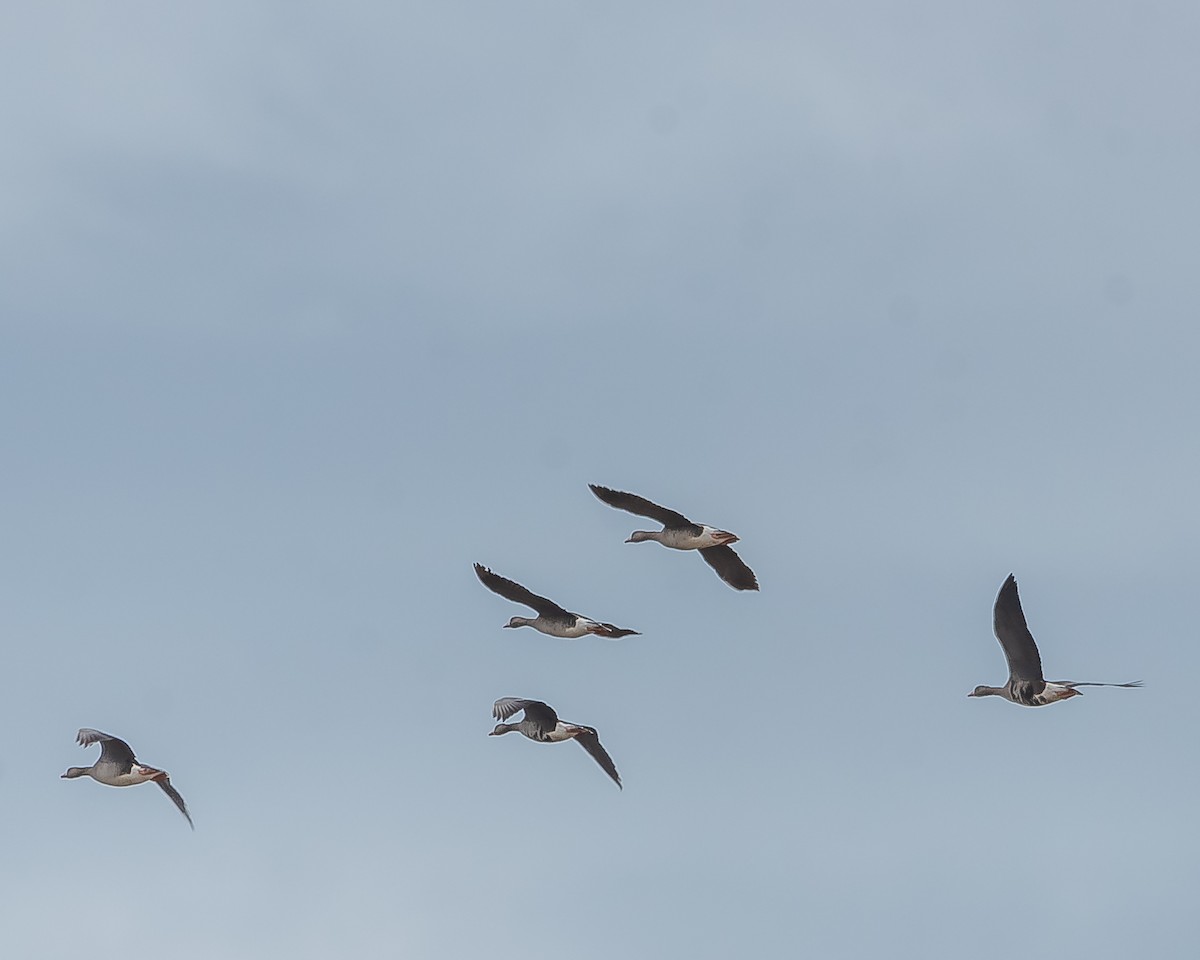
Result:
[[[634,530],[629,535],[626,544],[640,544],[654,540],[672,550],[695,550],[704,562],[716,571],[716,575],[736,590],[757,590],[758,578],[754,571],[746,566],[740,557],[733,551],[731,544],[738,541],[738,536],[728,530],[708,527],[703,523],[694,523],[683,514],[659,506],[656,503],[638,497],[636,493],[625,493],[619,490],[610,490],[595,484],[588,485],[592,492],[604,503],[618,510],[625,510],[637,516],[648,517],[662,524],[661,530]],[[499,594],[505,600],[521,604],[538,613],[536,617],[512,617],[506,628],[532,626],[547,636],[560,637],[563,640],[575,640],[588,635],[619,640],[620,637],[638,636],[637,630],[628,630],[605,620],[593,620],[580,613],[571,613],[565,607],[560,607],[553,600],[539,596],[533,590],[522,587],[515,581],[493,574],[486,566],[475,564],[475,575],[480,582],[493,593]],[[1080,695],[1080,686],[1141,686],[1141,680],[1130,683],[1092,683],[1080,680],[1048,680],[1042,672],[1042,655],[1038,646],[1025,622],[1025,612],[1021,610],[1021,599],[1016,593],[1016,580],[1009,574],[1008,578],[1000,588],[996,604],[992,608],[992,626],[996,638],[1004,652],[1008,661],[1008,682],[1003,686],[986,686],[980,684],[967,696],[989,697],[998,696],[1022,707],[1044,707],[1048,703],[1056,703],[1060,700]],[[518,713],[524,716],[515,722],[506,722]],[[612,778],[618,787],[622,786],[620,774],[613,763],[608,751],[600,743],[600,736],[595,727],[583,724],[571,724],[560,720],[554,708],[540,700],[527,700],[523,697],[500,697],[492,706],[492,716],[498,721],[490,737],[499,737],[505,733],[521,733],[535,743],[563,743],[575,740],[600,764],[600,768]],[[62,778],[73,780],[80,776],[90,776],[97,782],[113,787],[130,787],[138,784],[157,784],[172,802],[179,808],[192,829],[192,816],[187,811],[187,804],[172,784],[166,770],[156,767],[148,767],[138,763],[133,750],[125,740],[118,739],[98,730],[85,727],[79,731],[77,742],[80,746],[100,744],[100,757],[90,767],[71,767]]]

